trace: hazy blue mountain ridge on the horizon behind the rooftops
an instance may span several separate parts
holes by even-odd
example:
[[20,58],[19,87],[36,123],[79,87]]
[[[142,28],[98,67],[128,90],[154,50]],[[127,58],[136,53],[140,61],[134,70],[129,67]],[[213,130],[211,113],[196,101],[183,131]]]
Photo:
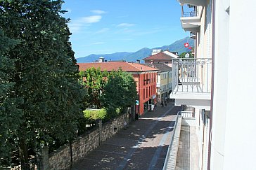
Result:
[[187,52],[188,48],[184,47],[184,43],[189,43],[189,45],[194,46],[194,40],[186,37],[179,41],[175,41],[171,45],[164,45],[162,47],[157,48],[142,48],[141,50],[138,50],[136,52],[115,52],[113,54],[105,54],[105,55],[88,55],[86,57],[79,57],[77,58],[78,63],[83,62],[95,62],[98,60],[99,57],[104,57],[105,60],[125,60],[127,62],[136,62],[137,59],[143,59],[145,57],[148,57],[151,55],[151,52],[153,49],[161,49],[161,50],[169,50],[170,52],[178,52],[179,55],[182,52]]

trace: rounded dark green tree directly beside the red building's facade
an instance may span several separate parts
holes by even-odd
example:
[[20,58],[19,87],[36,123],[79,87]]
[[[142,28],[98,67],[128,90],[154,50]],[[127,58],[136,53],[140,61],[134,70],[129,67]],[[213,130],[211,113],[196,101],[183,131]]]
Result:
[[104,106],[108,108],[110,117],[114,117],[117,108],[123,113],[127,107],[132,106],[137,98],[136,83],[130,73],[121,69],[112,71],[105,85]]

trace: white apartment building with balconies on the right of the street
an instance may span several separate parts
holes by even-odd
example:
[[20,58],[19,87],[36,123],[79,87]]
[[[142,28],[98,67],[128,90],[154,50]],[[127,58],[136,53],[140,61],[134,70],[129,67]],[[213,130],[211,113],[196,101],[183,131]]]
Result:
[[173,60],[170,98],[193,108],[198,159],[190,165],[255,169],[255,1],[178,1],[195,58]]

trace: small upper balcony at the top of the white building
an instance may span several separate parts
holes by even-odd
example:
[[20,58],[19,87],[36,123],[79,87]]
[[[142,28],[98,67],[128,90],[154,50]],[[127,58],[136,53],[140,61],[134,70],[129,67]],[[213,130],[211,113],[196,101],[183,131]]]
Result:
[[193,31],[198,32],[200,31],[200,23],[201,23],[201,16],[202,16],[202,7],[193,7],[185,8],[184,6],[181,7],[181,27],[185,31]]

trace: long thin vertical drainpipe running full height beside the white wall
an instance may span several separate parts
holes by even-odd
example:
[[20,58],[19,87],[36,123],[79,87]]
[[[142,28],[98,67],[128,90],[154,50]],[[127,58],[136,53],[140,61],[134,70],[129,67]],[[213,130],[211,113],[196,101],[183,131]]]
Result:
[[210,170],[211,163],[211,137],[212,137],[212,111],[213,111],[213,94],[214,94],[214,78],[215,78],[215,1],[212,0],[212,89],[211,89],[211,106],[210,106],[210,135],[208,142],[208,164],[207,169]]

